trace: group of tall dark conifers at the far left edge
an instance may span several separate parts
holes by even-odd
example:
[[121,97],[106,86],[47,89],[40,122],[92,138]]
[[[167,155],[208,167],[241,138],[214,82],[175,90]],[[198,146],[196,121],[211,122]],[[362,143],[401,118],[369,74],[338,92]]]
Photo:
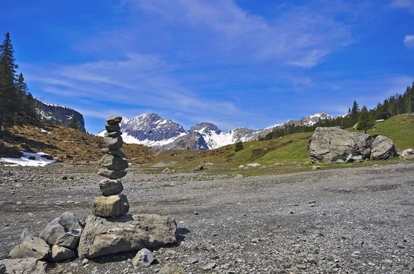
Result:
[[10,34],[0,45],[0,133],[19,121],[37,118],[37,100],[29,92],[23,74],[17,73]]

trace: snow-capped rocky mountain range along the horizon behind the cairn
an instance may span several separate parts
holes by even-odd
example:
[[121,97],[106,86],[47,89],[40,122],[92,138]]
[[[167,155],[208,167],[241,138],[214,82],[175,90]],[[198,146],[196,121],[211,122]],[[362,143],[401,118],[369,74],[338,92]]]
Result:
[[[253,130],[246,127],[237,127],[230,131],[221,131],[212,123],[199,123],[185,131],[184,128],[172,120],[161,118],[158,114],[141,114],[132,119],[123,118],[120,126],[125,143],[147,145],[157,149],[216,149],[225,145],[257,140],[277,127],[286,125],[313,125],[319,119],[333,119],[333,116],[323,112],[308,116],[303,120],[288,120],[285,123]],[[98,136],[104,136],[101,131]]]

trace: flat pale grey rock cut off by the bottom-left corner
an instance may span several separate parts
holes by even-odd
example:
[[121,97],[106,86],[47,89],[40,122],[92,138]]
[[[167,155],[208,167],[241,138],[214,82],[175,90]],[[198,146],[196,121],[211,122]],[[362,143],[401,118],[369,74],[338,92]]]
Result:
[[6,266],[8,274],[46,274],[46,262],[41,262],[33,257],[2,260],[0,264]]

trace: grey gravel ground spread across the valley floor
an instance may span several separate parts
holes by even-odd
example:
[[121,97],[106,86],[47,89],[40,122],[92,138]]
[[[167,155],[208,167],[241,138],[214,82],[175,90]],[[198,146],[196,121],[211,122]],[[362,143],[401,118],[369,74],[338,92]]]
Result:
[[[94,165],[0,167],[0,259],[23,229],[35,235],[65,211],[86,219],[100,195]],[[200,177],[201,176],[201,177]],[[414,163],[226,178],[200,173],[124,179],[130,213],[170,215],[179,244],[49,264],[48,273],[413,273]],[[204,270],[206,266],[212,267]]]

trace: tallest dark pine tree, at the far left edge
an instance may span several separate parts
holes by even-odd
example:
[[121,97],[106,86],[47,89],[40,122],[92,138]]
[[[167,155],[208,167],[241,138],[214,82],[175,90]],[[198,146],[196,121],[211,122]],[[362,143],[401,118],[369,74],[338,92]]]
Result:
[[0,45],[0,132],[5,125],[12,125],[17,108],[17,65],[14,63],[13,53],[10,34],[7,32]]

